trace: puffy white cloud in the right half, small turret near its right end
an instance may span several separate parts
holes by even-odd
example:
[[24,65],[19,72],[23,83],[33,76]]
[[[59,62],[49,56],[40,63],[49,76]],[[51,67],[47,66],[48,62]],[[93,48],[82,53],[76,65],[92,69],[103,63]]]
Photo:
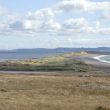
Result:
[[[99,34],[109,35],[110,28],[102,27],[100,21],[91,24],[85,18],[69,19],[62,24],[62,33],[73,34]],[[60,33],[61,34],[61,33]],[[63,35],[63,34],[62,34]]]

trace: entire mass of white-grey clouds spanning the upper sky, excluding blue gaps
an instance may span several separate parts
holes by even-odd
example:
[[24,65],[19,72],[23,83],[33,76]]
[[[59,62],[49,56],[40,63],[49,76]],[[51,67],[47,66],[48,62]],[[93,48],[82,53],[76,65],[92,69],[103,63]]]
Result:
[[[0,12],[2,12],[0,8]],[[89,34],[110,34],[110,28],[101,26],[100,20],[90,22],[86,17],[74,18],[74,11],[104,11],[110,10],[110,2],[93,2],[92,0],[62,0],[61,2],[43,8],[35,12],[29,11],[24,15],[15,15],[10,12],[5,14],[0,21],[0,33],[55,33],[56,35],[74,35],[81,33]],[[63,13],[64,12],[64,13]],[[70,12],[72,16],[64,21],[58,17]],[[109,15],[105,16],[109,18]]]

